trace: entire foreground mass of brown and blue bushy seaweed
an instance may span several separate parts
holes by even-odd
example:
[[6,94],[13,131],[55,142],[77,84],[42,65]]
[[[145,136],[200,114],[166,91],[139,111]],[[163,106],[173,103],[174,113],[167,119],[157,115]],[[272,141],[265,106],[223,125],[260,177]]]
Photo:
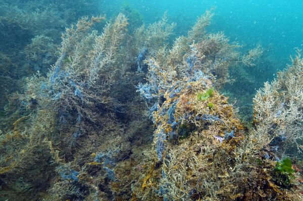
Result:
[[166,15],[67,28],[50,71],[9,98],[0,200],[302,200],[303,59],[257,91],[247,128],[220,90],[262,48],[206,33],[212,15],[172,45]]

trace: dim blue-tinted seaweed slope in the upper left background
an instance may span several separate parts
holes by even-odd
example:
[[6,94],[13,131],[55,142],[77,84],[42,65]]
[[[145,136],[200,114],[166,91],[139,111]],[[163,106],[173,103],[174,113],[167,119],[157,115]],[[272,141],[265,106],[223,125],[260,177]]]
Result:
[[[22,92],[23,78],[45,75],[56,62],[61,33],[84,15],[97,15],[97,1],[0,1],[1,111],[8,96]],[[11,65],[11,66],[10,66]],[[7,114],[10,114],[6,111]]]

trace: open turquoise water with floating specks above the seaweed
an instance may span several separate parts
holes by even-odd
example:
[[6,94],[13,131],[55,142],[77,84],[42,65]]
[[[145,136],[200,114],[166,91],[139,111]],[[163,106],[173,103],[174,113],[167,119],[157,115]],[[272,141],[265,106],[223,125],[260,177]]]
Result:
[[[186,34],[196,18],[206,9],[215,8],[215,16],[208,31],[223,31],[232,41],[252,48],[261,44],[276,61],[277,70],[289,63],[295,48],[303,48],[303,1],[148,1],[129,0],[145,23],[152,23],[167,11],[169,20],[177,23],[176,35]],[[104,0],[102,7],[111,16],[125,3]]]

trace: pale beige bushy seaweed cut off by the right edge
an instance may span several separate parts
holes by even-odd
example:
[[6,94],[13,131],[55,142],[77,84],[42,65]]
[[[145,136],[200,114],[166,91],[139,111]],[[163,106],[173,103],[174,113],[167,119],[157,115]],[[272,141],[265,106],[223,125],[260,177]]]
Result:
[[285,152],[302,151],[303,61],[298,51],[287,70],[277,80],[265,83],[253,99],[255,136],[262,135],[278,157]]

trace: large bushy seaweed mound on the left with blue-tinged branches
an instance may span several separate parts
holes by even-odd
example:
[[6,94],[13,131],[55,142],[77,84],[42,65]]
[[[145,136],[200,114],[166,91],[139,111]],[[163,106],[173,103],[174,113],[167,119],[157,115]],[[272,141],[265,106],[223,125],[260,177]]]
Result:
[[[21,193],[30,199],[49,189],[50,194],[44,196],[47,200],[111,197],[109,182],[119,182],[113,161],[129,157],[134,138],[141,143],[149,141],[144,135],[150,132],[150,123],[143,102],[136,99],[135,88],[143,74],[132,69],[132,65],[138,65],[134,58],[140,57],[140,49],[145,46],[134,48],[135,53],[124,48],[135,47],[135,41],[128,35],[123,14],[109,21],[98,34],[93,26],[101,20],[104,18],[85,17],[66,28],[58,60],[47,76],[38,72],[26,79],[25,93],[14,97],[19,99],[21,105],[17,107],[25,116],[7,135],[1,134],[3,196],[18,200]],[[156,30],[149,29],[148,34],[163,29],[163,34],[169,35],[165,23],[164,19],[157,26],[150,25]],[[148,34],[142,37],[150,38]],[[30,51],[28,55],[34,56]],[[121,150],[115,158],[102,155],[113,147]],[[98,154],[92,162],[86,155],[95,152]],[[47,175],[32,179],[35,171],[43,172],[40,169]],[[23,174],[28,176],[21,178]],[[54,176],[56,179],[47,182]],[[19,183],[24,183],[24,188],[14,193]]]

